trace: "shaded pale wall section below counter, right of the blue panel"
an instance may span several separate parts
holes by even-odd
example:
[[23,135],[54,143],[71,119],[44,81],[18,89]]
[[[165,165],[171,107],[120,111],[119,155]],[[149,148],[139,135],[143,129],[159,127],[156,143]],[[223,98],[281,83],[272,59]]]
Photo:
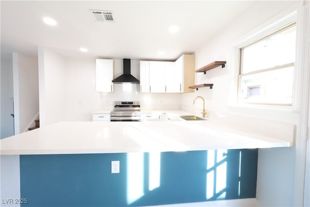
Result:
[[256,198],[263,206],[292,207],[295,148],[259,149]]

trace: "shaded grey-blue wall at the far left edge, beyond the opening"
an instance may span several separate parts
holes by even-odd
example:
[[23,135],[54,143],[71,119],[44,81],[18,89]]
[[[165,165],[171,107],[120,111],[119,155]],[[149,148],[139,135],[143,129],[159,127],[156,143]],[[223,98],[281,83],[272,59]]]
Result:
[[5,138],[14,135],[14,118],[10,115],[13,109],[13,62],[1,58],[1,136]]

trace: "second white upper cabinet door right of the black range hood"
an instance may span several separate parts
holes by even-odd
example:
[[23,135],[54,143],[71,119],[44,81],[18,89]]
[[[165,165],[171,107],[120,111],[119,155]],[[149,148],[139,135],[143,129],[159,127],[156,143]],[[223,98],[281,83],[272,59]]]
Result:
[[150,61],[150,92],[165,93],[165,62]]

